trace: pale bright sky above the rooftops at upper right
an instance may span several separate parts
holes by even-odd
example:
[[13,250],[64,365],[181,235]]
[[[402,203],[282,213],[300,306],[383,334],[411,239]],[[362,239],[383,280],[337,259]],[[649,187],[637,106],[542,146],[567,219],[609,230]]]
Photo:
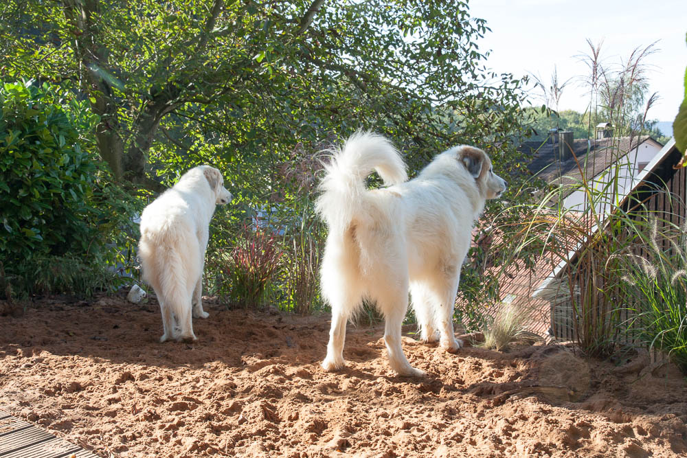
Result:
[[[685,94],[687,67],[687,0],[470,0],[470,14],[486,19],[492,32],[477,41],[491,49],[486,67],[521,77],[533,73],[550,84],[554,67],[563,89],[560,110],[583,112],[589,98],[581,85],[587,66],[581,56],[603,41],[601,60],[607,67],[627,61],[636,47],[658,41],[648,65],[649,94],[660,99],[648,119],[672,122]],[[537,91],[532,104],[541,106]]]

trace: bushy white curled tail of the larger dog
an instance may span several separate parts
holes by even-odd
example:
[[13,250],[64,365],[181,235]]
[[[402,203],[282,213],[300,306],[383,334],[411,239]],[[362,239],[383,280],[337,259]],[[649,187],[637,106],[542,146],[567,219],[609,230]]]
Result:
[[365,194],[365,178],[372,172],[381,176],[385,185],[407,181],[401,154],[389,140],[374,133],[351,135],[343,148],[333,150],[332,161],[325,165],[326,175],[319,185],[322,194],[315,202],[330,231],[345,231],[355,214],[359,214]]

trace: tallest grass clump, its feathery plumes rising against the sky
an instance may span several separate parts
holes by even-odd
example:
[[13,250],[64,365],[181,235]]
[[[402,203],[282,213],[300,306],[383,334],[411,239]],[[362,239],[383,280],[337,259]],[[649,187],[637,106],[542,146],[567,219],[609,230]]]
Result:
[[[561,325],[572,327],[585,354],[606,357],[616,348],[619,304],[628,294],[616,254],[632,243],[621,207],[634,174],[629,153],[638,145],[646,112],[656,99],[652,95],[643,113],[639,111],[647,87],[644,60],[654,49],[653,45],[635,49],[618,67],[608,67],[600,60],[600,45],[587,43],[590,52],[583,58],[589,67],[583,81],[589,90],[587,154],[581,160],[573,152],[577,178],[559,176],[550,183],[550,192],[540,196],[541,203],[526,209],[530,218],[519,224],[516,253],[538,251],[539,256],[550,257],[555,268],[539,297],[570,311],[567,323]],[[610,122],[613,128],[611,138],[601,140],[607,154],[589,154],[600,141],[595,132],[600,122]],[[629,137],[629,142],[620,137]],[[613,165],[599,173],[593,161],[604,155],[600,159],[604,165]],[[566,201],[570,192],[581,195],[583,202]],[[566,300],[552,297],[554,291]]]

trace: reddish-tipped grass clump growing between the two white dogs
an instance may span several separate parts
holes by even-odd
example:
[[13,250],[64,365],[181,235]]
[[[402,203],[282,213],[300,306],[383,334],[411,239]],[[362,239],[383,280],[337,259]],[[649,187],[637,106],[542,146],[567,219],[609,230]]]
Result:
[[264,306],[282,254],[278,238],[269,228],[259,222],[244,225],[226,268],[232,303],[244,308]]

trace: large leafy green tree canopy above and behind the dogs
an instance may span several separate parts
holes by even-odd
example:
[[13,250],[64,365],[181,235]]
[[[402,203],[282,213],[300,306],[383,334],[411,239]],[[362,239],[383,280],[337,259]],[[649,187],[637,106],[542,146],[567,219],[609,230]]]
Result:
[[268,194],[282,161],[357,128],[412,168],[460,143],[518,162],[521,82],[485,69],[463,1],[10,0],[0,24],[4,78],[80,93],[137,187],[210,162]]

